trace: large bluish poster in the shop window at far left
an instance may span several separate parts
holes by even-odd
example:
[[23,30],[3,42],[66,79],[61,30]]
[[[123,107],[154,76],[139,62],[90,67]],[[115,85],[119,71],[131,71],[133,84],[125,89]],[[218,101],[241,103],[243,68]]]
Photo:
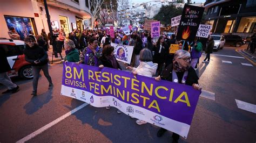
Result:
[[29,35],[29,31],[33,31],[31,18],[4,16],[4,19],[8,29],[10,30],[11,27],[14,27],[21,40],[24,40]]

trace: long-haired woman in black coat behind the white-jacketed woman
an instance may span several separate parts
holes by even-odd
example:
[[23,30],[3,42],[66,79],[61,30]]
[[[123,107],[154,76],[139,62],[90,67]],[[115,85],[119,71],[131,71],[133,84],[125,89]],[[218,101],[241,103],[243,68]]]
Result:
[[169,51],[169,48],[167,47],[163,36],[159,37],[157,45],[154,46],[153,51],[153,62],[158,64],[157,71],[158,75],[160,75],[165,62],[166,55]]

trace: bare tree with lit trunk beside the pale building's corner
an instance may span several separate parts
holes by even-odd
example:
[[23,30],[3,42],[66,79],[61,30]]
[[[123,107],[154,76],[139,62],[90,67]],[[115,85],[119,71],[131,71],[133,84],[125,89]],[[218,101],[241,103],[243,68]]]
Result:
[[94,27],[95,19],[98,15],[100,8],[102,7],[104,0],[89,0],[89,10],[91,12],[92,28]]

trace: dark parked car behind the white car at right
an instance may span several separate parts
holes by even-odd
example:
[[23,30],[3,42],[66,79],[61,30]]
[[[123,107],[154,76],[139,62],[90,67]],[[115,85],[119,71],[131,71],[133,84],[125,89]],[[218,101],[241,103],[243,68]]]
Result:
[[245,44],[244,40],[239,35],[224,35],[226,40],[225,45],[241,47]]

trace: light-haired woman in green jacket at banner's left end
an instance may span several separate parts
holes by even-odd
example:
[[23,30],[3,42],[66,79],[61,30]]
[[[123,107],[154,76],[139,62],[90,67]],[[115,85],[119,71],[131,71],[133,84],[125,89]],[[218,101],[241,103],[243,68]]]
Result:
[[66,40],[64,47],[66,49],[65,61],[69,62],[79,62],[79,52],[76,49],[76,46],[72,40]]

